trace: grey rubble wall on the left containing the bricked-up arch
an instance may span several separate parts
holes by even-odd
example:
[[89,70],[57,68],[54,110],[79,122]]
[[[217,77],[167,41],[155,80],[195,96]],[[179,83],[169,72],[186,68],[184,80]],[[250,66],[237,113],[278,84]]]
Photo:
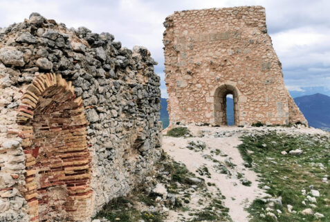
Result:
[[37,13],[0,29],[0,221],[89,221],[161,154],[156,62]]

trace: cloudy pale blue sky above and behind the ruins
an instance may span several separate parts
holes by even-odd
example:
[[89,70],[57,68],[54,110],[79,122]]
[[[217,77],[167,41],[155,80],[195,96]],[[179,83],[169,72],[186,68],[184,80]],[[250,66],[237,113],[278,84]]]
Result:
[[174,11],[232,6],[264,6],[268,34],[282,62],[284,81],[293,97],[330,96],[329,0],[1,0],[0,27],[39,12],[68,28],[85,26],[109,32],[122,46],[145,46],[158,61],[162,97],[164,81],[163,22]]

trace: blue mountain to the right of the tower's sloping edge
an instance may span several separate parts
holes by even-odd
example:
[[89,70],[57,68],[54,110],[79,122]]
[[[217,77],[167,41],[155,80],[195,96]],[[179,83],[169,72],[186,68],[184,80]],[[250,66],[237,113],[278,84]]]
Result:
[[330,130],[330,97],[317,93],[294,100],[310,126]]

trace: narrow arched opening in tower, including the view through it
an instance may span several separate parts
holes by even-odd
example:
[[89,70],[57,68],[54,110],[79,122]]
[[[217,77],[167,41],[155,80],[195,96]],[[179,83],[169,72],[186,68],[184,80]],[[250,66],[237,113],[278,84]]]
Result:
[[214,125],[238,125],[237,90],[232,85],[221,85],[214,93]]

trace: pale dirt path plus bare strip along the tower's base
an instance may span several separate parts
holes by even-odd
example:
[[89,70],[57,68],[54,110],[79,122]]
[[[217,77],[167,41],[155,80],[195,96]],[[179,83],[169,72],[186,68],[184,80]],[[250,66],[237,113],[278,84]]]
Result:
[[[248,208],[257,197],[268,195],[258,188],[257,174],[244,166],[244,161],[237,149],[237,145],[241,143],[239,137],[244,133],[254,134],[265,131],[286,132],[287,134],[327,133],[313,128],[211,128],[194,125],[190,125],[188,128],[194,137],[163,137],[163,150],[175,161],[185,163],[187,169],[205,179],[205,183],[215,183],[221,193],[226,196],[224,205],[229,208],[232,221],[238,222],[248,221],[248,212],[244,208]],[[205,143],[206,148],[197,152],[190,150],[187,146],[191,141]],[[226,163],[228,161],[229,164]],[[221,172],[219,165],[225,166],[230,174],[223,173],[223,170]],[[208,169],[210,176],[201,176],[196,172],[204,167]],[[250,186],[243,185],[243,181],[250,181]],[[211,187],[208,189],[212,190]],[[197,205],[195,207],[198,208]],[[194,205],[191,208],[194,208]],[[176,221],[176,219],[176,213],[169,212],[169,221]]]

